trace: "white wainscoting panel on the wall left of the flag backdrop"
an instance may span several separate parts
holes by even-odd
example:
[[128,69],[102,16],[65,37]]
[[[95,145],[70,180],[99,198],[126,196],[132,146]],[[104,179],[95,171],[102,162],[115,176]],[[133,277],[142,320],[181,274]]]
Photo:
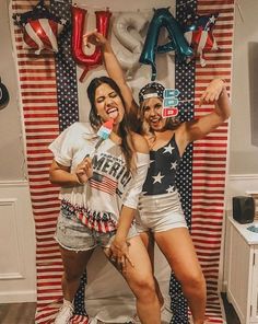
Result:
[[35,228],[26,181],[0,182],[0,303],[35,301]]

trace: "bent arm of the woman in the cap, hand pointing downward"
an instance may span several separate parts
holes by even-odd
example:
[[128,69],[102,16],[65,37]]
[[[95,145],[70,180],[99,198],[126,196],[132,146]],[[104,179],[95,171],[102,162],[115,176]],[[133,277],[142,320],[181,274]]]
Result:
[[221,79],[213,79],[201,95],[199,106],[214,103],[212,113],[196,120],[185,123],[185,139],[187,143],[203,138],[222,125],[231,115],[231,103],[225,83]]

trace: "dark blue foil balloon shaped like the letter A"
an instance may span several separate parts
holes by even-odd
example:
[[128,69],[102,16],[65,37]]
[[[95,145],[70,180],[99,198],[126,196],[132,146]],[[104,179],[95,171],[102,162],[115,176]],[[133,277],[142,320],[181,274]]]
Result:
[[[175,50],[180,60],[191,57],[194,51],[187,43],[179,23],[168,10],[169,8],[159,8],[154,10],[154,15],[150,22],[146,38],[140,56],[140,62],[151,65],[152,78],[156,78],[155,54]],[[162,27],[165,27],[169,35],[169,42],[157,46],[159,35]]]

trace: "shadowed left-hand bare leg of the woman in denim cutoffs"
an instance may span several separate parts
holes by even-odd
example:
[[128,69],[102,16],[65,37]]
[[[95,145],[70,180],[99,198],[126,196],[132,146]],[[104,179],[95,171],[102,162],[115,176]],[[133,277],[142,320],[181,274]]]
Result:
[[60,251],[64,269],[62,275],[63,298],[72,302],[93,250],[74,252],[60,246]]

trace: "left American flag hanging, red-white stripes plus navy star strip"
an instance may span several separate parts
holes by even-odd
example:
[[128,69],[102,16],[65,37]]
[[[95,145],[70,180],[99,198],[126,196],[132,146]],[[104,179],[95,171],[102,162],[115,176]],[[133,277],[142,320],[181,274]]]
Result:
[[[32,11],[37,1],[12,1],[12,14]],[[52,13],[70,19],[70,3],[52,3]],[[75,65],[70,55],[70,31],[55,57],[24,49],[23,30],[14,26],[16,61],[26,139],[27,172],[36,230],[37,312],[35,323],[54,323],[62,302],[62,262],[54,240],[60,202],[59,187],[50,185],[52,155],[47,149],[61,130],[79,119]],[[87,323],[84,310],[85,275],[75,297],[77,323]]]

